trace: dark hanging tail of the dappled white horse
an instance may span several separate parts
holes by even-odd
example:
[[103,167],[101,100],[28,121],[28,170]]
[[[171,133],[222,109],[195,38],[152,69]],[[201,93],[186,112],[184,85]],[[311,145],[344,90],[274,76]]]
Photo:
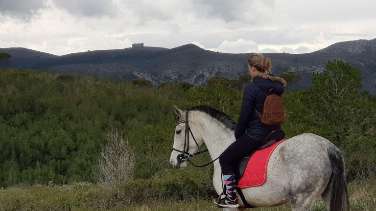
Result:
[[328,154],[333,169],[328,184],[328,186],[331,186],[329,211],[349,211],[349,194],[347,191],[345,163],[342,152],[335,146],[330,146]]

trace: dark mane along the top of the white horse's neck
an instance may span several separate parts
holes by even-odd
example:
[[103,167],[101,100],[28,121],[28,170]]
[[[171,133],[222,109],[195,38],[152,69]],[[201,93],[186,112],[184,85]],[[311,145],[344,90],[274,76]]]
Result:
[[234,121],[233,118],[231,118],[227,114],[225,114],[222,111],[219,111],[215,108],[212,108],[212,107],[209,107],[209,106],[206,106],[206,105],[199,105],[199,106],[187,108],[187,111],[204,112],[204,113],[208,114],[209,116],[211,116],[212,118],[221,122],[223,125],[225,125],[225,127],[229,128],[231,130],[235,130],[235,128],[236,128],[236,122]]

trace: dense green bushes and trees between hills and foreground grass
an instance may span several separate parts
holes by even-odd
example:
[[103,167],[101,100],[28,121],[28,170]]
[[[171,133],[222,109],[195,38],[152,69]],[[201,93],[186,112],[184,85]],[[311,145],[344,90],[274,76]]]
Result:
[[[286,121],[282,127],[287,137],[312,132],[344,150],[349,181],[371,176],[376,172],[375,96],[359,90],[360,72],[348,64],[330,62],[327,69],[313,76],[310,89],[283,95]],[[216,77],[207,86],[154,87],[4,69],[0,74],[0,187],[93,181],[105,133],[112,128],[127,131],[123,138],[135,150],[133,179],[163,178],[171,168],[172,105],[209,105],[237,119],[242,89],[249,80],[249,76]],[[210,184],[210,176],[202,179]]]

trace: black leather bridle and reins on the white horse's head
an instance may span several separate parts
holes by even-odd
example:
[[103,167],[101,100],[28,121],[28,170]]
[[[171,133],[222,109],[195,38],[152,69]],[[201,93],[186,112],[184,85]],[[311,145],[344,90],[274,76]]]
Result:
[[202,150],[202,151],[196,152],[196,153],[194,153],[194,154],[190,154],[190,153],[188,152],[188,150],[189,150],[189,134],[192,136],[193,141],[194,141],[194,143],[196,143],[197,148],[199,147],[198,144],[197,144],[197,141],[196,141],[196,139],[194,138],[193,133],[192,133],[192,131],[190,130],[190,127],[189,127],[188,112],[189,112],[189,111],[186,112],[186,120],[185,120],[185,121],[184,121],[184,120],[178,120],[178,121],[176,122],[176,124],[175,124],[175,127],[176,127],[177,125],[179,125],[179,124],[182,124],[182,123],[185,123],[185,124],[186,124],[186,131],[185,131],[185,137],[184,137],[184,148],[183,148],[183,150],[179,150],[179,149],[176,149],[176,148],[172,148],[172,150],[175,150],[175,151],[178,151],[178,152],[181,153],[181,154],[178,154],[178,156],[176,157],[176,159],[178,160],[179,163],[183,163],[184,161],[187,160],[187,161],[188,161],[190,164],[192,164],[194,167],[206,167],[206,166],[212,164],[214,161],[216,161],[219,157],[215,158],[215,159],[212,160],[210,163],[205,164],[205,165],[203,165],[203,166],[196,166],[196,165],[194,165],[194,164],[192,163],[192,161],[189,160],[189,158],[191,158],[191,157],[193,157],[193,156],[195,156],[195,155],[198,155],[198,154],[201,154],[201,153],[207,152],[208,149],[205,149],[205,150]]

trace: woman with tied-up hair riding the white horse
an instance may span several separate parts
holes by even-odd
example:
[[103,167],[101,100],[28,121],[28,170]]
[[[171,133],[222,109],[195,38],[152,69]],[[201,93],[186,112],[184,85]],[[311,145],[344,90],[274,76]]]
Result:
[[282,78],[271,74],[270,66],[270,60],[261,54],[254,54],[248,59],[249,73],[254,79],[244,88],[243,103],[235,129],[236,141],[219,156],[223,180],[227,188],[226,197],[218,201],[218,205],[221,207],[235,208],[239,206],[235,190],[233,163],[250,151],[256,150],[270,132],[281,129],[281,125],[261,123],[255,111],[256,109],[258,112],[262,112],[265,93],[268,93],[270,88],[273,88],[274,93],[281,96],[283,86],[286,85]]

